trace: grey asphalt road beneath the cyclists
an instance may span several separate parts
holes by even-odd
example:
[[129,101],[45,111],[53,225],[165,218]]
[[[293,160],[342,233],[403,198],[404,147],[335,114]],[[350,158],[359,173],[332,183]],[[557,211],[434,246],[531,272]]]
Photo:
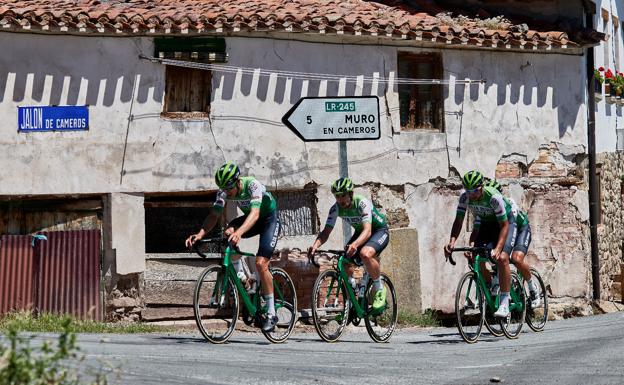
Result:
[[624,383],[624,313],[525,329],[517,340],[485,331],[473,345],[454,328],[398,330],[377,344],[363,327],[334,344],[295,332],[273,345],[239,331],[224,345],[199,333],[83,334],[78,341],[89,362],[118,367],[119,383],[131,385]]

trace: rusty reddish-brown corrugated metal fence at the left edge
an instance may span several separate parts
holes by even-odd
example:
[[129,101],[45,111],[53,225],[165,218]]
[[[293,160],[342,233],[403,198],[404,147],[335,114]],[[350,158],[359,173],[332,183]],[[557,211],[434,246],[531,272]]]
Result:
[[99,230],[0,238],[0,314],[35,309],[102,320]]

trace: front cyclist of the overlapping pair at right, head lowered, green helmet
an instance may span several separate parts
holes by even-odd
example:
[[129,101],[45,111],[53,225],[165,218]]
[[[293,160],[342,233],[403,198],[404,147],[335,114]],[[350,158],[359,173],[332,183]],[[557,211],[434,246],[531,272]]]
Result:
[[501,297],[495,317],[509,315],[509,290],[511,288],[511,271],[509,255],[516,239],[516,221],[511,212],[511,205],[494,188],[483,185],[483,175],[479,171],[468,171],[462,177],[465,191],[459,197],[455,221],[451,230],[449,243],[444,247],[445,256],[449,256],[461,232],[466,210],[470,209],[479,221],[477,234],[470,236],[470,245],[486,245],[493,243],[492,258],[498,266],[500,276]]

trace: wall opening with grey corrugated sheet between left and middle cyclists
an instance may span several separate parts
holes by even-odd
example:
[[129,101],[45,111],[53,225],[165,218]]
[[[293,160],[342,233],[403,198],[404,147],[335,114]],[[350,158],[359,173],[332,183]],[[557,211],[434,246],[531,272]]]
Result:
[[282,229],[280,236],[314,235],[318,233],[316,189],[271,191],[277,200]]

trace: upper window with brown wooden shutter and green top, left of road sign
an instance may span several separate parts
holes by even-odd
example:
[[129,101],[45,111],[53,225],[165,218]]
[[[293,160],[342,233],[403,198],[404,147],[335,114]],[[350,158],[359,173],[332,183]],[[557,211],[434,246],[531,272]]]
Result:
[[165,101],[163,117],[201,118],[210,113],[212,72],[192,63],[225,63],[225,40],[216,37],[154,39],[154,56],[170,59],[180,65],[167,65],[165,69]]

